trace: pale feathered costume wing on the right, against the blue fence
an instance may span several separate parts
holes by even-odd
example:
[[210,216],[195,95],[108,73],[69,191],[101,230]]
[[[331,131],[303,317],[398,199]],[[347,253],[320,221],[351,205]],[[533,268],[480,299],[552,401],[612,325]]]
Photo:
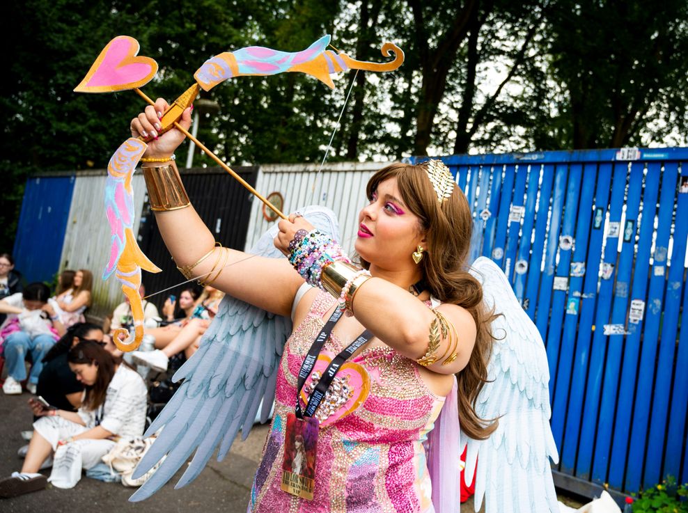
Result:
[[487,368],[490,381],[476,402],[478,416],[499,418],[499,427],[485,441],[461,432],[462,449],[468,447],[464,480],[470,484],[476,475],[476,512],[484,497],[486,513],[558,513],[545,345],[497,264],[480,257],[471,267],[483,283],[487,308],[501,314],[492,323],[499,340]]

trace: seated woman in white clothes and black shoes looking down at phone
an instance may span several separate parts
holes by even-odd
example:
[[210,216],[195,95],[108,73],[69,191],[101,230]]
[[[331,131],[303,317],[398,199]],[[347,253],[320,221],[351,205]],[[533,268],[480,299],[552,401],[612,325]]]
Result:
[[[0,497],[9,498],[44,489],[73,488],[81,470],[100,463],[115,445],[115,436],[136,437],[146,424],[146,386],[124,363],[117,364],[105,349],[91,340],[79,342],[68,353],[69,366],[84,384],[86,395],[77,413],[47,409],[29,400],[40,416],[21,472],[0,480]],[[38,473],[54,452],[50,478]]]

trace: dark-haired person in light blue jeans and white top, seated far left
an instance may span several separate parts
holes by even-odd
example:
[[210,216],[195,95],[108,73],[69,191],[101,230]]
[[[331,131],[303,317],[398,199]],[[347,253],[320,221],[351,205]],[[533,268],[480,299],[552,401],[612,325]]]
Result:
[[17,292],[0,301],[0,313],[9,316],[0,329],[0,345],[8,368],[2,386],[7,395],[22,393],[20,381],[26,379],[27,354],[31,355],[31,372],[26,389],[36,393],[36,384],[43,368],[42,360],[55,341],[65,334],[65,326],[52,306],[47,303],[50,289],[45,283],[31,283],[24,292]]

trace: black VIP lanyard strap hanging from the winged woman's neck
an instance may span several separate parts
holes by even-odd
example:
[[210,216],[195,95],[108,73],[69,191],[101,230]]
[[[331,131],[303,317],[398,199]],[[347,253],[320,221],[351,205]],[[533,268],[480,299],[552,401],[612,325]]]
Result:
[[334,357],[330,364],[327,365],[325,372],[322,372],[322,377],[320,377],[318,385],[315,386],[315,390],[313,390],[313,393],[311,393],[311,397],[308,398],[308,404],[306,404],[306,411],[302,411],[301,403],[299,402],[299,394],[301,393],[301,390],[304,387],[304,384],[306,383],[306,378],[308,378],[308,376],[311,374],[311,371],[313,370],[313,367],[315,367],[315,362],[318,361],[318,354],[320,354],[322,346],[325,345],[325,341],[331,335],[332,330],[334,329],[334,325],[342,316],[342,313],[343,310],[340,310],[339,308],[334,309],[334,312],[332,313],[332,315],[330,315],[329,319],[325,323],[325,326],[322,326],[320,333],[318,333],[318,336],[315,337],[313,345],[311,345],[311,349],[308,349],[308,354],[306,355],[304,363],[301,364],[301,370],[299,370],[299,381],[297,384],[296,397],[297,418],[304,418],[304,416],[313,416],[315,410],[318,409],[318,406],[320,406],[320,402],[322,402],[323,398],[325,398],[325,393],[327,392],[327,389],[332,384],[335,375],[337,374],[338,370],[341,368],[343,363],[347,361],[347,359],[350,358],[352,354],[354,354],[357,351],[357,349],[359,349],[359,347],[361,347],[363,344],[368,342],[370,338],[373,337],[373,333],[370,330],[366,329],[366,331],[363,331],[363,333],[361,333],[361,335],[359,335],[356,340],[351,342],[350,345],[348,345],[345,349],[343,349],[342,352],[340,352],[337,356]]

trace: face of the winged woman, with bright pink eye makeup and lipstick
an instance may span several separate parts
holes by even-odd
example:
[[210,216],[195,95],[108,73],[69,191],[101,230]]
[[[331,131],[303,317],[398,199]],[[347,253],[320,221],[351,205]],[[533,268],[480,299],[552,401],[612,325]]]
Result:
[[423,246],[418,217],[401,199],[395,177],[380,182],[377,191],[359,213],[357,253],[382,269],[396,270],[414,265],[412,253]]

